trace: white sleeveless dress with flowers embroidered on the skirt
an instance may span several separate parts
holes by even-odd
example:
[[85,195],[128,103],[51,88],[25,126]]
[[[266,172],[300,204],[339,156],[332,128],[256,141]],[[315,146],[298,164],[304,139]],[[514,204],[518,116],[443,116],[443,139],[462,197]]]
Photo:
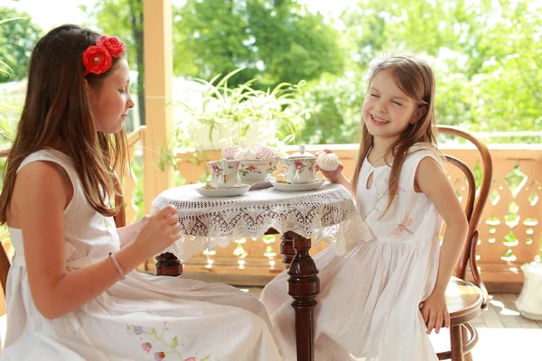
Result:
[[[113,218],[90,207],[70,158],[43,150],[27,157],[60,164],[73,183],[64,211],[68,271],[119,249]],[[132,272],[95,300],[58,319],[36,310],[24,263],[23,236],[7,281],[7,335],[0,360],[282,360],[265,308],[221,283]]]

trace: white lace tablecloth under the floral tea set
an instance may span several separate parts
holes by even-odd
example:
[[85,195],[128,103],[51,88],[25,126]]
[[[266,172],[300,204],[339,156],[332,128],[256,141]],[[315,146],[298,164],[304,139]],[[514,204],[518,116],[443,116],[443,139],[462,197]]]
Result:
[[201,196],[195,188],[202,186],[165,190],[153,201],[153,212],[168,204],[177,208],[182,238],[164,252],[183,262],[239,238],[259,238],[269,228],[312,238],[313,245],[323,240],[337,255],[373,239],[350,192],[341,185],[326,183],[319,190],[299,192],[249,190],[242,196],[225,198]]

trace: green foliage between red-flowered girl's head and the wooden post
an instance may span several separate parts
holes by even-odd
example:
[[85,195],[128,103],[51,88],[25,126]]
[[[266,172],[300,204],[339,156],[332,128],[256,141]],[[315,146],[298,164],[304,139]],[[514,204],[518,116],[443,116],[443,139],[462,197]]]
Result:
[[[87,11],[86,7],[82,7]],[[145,125],[145,65],[143,61],[142,0],[102,0],[90,9],[99,30],[126,42],[130,67],[137,71],[139,119]]]

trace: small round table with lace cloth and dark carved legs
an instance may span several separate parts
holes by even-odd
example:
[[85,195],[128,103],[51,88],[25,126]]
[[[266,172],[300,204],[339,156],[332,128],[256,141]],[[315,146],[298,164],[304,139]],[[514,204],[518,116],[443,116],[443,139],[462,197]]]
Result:
[[[249,190],[237,197],[203,197],[191,184],[165,190],[153,201],[153,211],[177,208],[181,239],[156,257],[156,274],[180,275],[182,263],[205,249],[226,246],[242,237],[281,234],[281,254],[288,268],[288,294],[294,302],[297,359],[313,360],[314,298],[320,292],[318,270],[309,255],[311,245],[325,241],[344,255],[373,238],[341,185],[325,183],[310,191]],[[313,238],[313,241],[311,240]]]

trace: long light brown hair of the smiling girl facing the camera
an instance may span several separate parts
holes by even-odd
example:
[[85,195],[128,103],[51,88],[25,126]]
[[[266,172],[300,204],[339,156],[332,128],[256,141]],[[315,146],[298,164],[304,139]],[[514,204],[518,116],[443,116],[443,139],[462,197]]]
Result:
[[[399,189],[399,175],[408,156],[408,150],[414,144],[423,143],[426,147],[440,154],[435,147],[435,75],[424,60],[408,55],[383,57],[375,61],[369,70],[369,87],[374,77],[382,70],[390,69],[396,79],[397,86],[412,97],[419,107],[425,107],[425,113],[414,124],[408,125],[399,138],[392,143],[388,153],[393,156],[391,175],[388,184],[388,203],[380,215],[382,218],[395,199]],[[368,88],[369,88],[368,87]],[[352,194],[357,194],[360,170],[365,157],[373,145],[373,136],[369,134],[365,122],[361,121],[361,143],[356,169],[352,176]]]

